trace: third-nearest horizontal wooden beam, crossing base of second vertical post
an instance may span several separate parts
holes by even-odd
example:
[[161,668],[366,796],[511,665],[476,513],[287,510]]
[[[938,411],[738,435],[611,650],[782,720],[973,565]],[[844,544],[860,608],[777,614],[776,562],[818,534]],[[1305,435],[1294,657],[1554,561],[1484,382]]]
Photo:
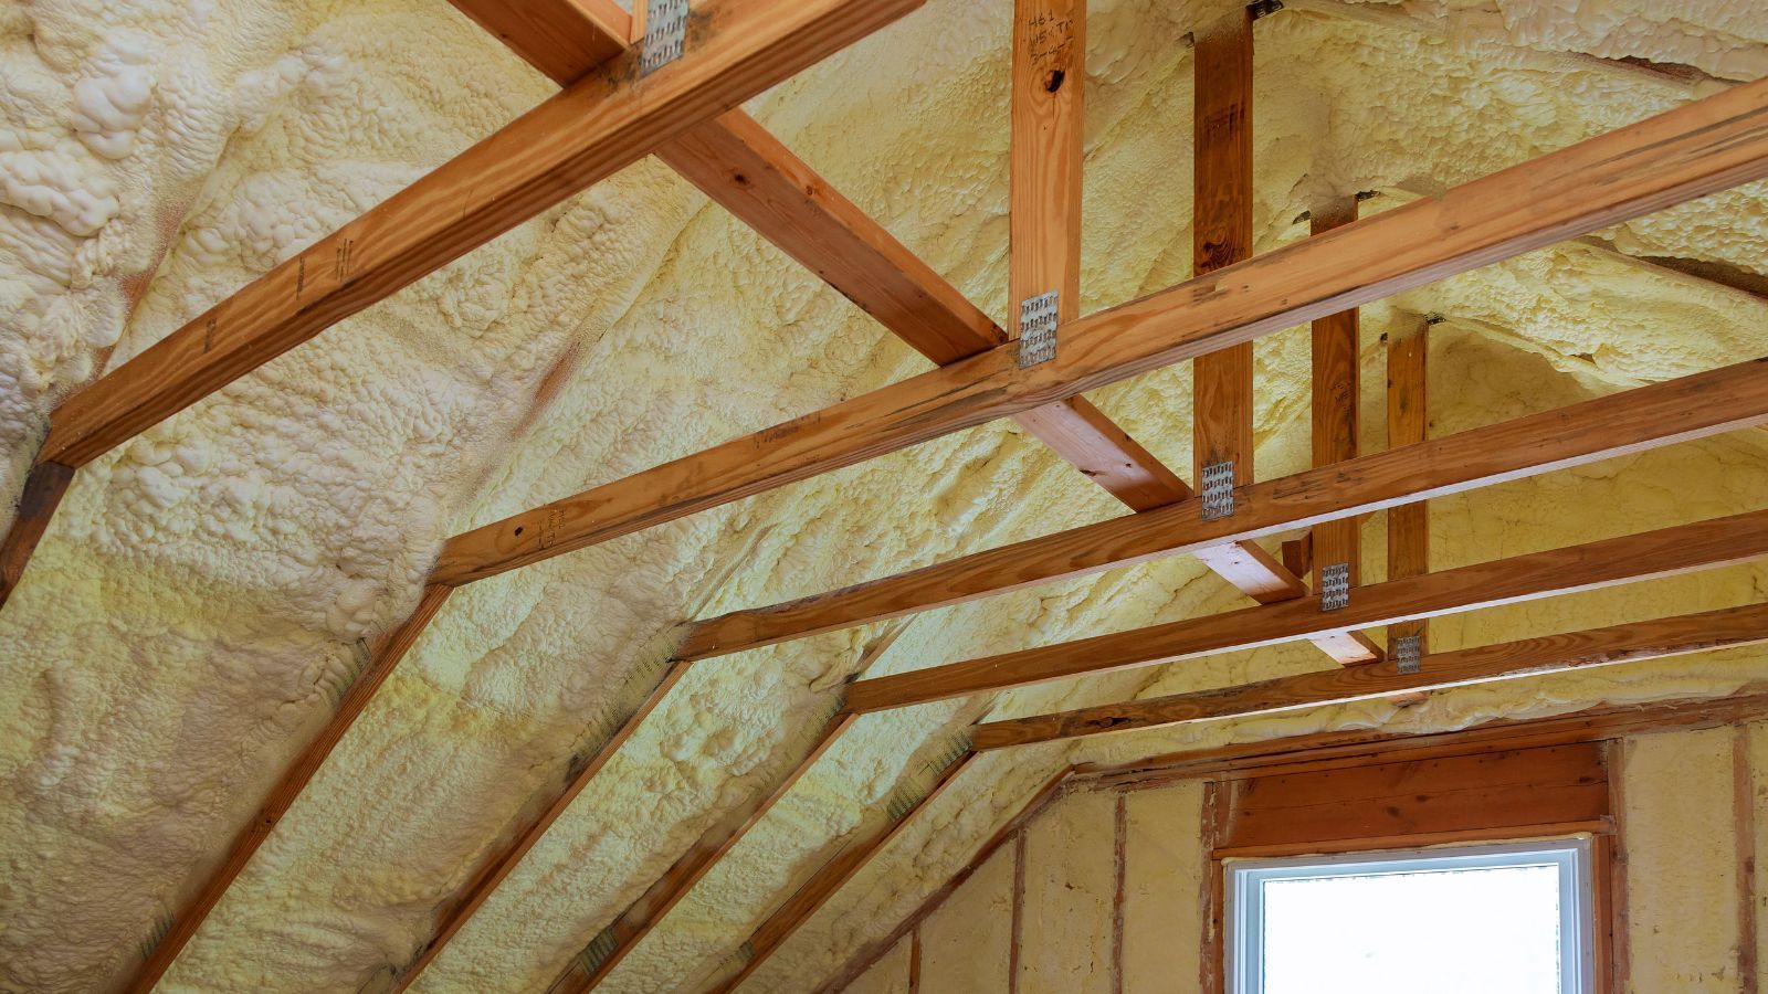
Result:
[[1768,359],[1635,387],[1444,439],[1310,469],[1241,492],[1231,518],[1197,501],[992,548],[896,577],[695,623],[681,658],[704,660],[948,607],[1222,541],[1282,534],[1768,421]]

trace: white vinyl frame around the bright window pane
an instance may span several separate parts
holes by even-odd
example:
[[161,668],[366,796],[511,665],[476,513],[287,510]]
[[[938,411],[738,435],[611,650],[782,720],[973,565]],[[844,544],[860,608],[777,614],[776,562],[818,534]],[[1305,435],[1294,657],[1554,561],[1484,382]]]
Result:
[[1559,990],[1597,994],[1595,980],[1595,886],[1589,837],[1455,845],[1441,849],[1393,849],[1338,856],[1287,856],[1278,860],[1223,860],[1227,936],[1227,989],[1231,994],[1264,990],[1264,884],[1268,881],[1420,874],[1432,870],[1482,870],[1499,867],[1559,868]]

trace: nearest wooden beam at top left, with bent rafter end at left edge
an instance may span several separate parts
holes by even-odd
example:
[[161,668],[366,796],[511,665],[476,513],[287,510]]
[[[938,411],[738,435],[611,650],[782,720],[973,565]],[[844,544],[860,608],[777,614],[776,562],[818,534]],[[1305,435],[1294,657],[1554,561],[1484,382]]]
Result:
[[921,0],[707,0],[649,76],[619,55],[64,400],[0,543],[0,603],[72,470]]

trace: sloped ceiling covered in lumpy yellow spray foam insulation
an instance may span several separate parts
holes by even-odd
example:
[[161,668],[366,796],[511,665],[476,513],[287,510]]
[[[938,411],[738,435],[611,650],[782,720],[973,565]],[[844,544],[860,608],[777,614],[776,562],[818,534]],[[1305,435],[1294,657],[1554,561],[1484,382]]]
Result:
[[[1768,9],[1305,0],[1257,25],[1255,237],[1381,210],[1768,74]],[[1190,274],[1188,32],[1094,0],[1082,310]],[[1006,320],[1008,0],[932,0],[748,110]],[[553,92],[442,0],[0,0],[0,478],[53,401]],[[1432,433],[1768,352],[1768,187],[1365,308],[1434,313]],[[1641,262],[1653,260],[1653,262]],[[1692,274],[1692,276],[1690,276]],[[1257,345],[1259,476],[1308,462],[1308,341]],[[120,985],[361,665],[440,541],[926,364],[654,159],[345,320],[81,474],[0,612],[0,985]],[[1190,465],[1185,366],[1094,401]],[[1444,499],[1434,566],[1759,509],[1743,432]],[[992,423],[454,594],[163,990],[384,989],[438,904],[656,686],[677,623],[1121,513]],[[1381,516],[1363,531],[1379,578]],[[1759,601],[1754,566],[1441,619],[1455,647]],[[898,672],[1220,612],[1176,557],[695,665],[415,983],[537,990]],[[983,715],[1321,669],[1299,644],[859,720],[601,985],[695,990]],[[744,990],[812,990],[1052,771],[1324,727],[1455,727],[1726,693],[1736,649],[974,761]]]

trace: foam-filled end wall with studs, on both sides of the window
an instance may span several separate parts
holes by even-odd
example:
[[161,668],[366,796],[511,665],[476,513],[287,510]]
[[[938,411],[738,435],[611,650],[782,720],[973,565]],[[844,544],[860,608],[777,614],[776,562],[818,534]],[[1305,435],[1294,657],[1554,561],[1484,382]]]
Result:
[[[1754,913],[1768,900],[1768,875],[1754,865],[1768,845],[1768,819],[1756,817],[1768,798],[1768,723],[1632,736],[1618,755],[1623,990],[1754,990],[1750,971],[1768,953]],[[911,973],[916,994],[1193,990],[1209,865],[1202,824],[1200,780],[1071,792],[921,921],[918,967],[916,939],[903,937],[847,990],[909,992]]]

